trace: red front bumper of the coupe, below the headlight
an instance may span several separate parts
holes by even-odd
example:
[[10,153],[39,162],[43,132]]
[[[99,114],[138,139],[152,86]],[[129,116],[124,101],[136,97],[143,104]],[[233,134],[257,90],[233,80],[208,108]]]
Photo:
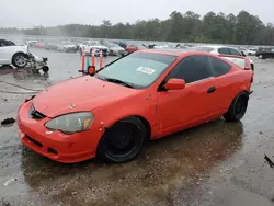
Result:
[[[18,113],[21,141],[31,150],[62,163],[76,163],[95,157],[101,137],[99,129],[66,135],[48,130],[44,124],[50,118],[33,119],[28,116],[32,101],[24,103]],[[92,133],[92,135],[91,135]]]

